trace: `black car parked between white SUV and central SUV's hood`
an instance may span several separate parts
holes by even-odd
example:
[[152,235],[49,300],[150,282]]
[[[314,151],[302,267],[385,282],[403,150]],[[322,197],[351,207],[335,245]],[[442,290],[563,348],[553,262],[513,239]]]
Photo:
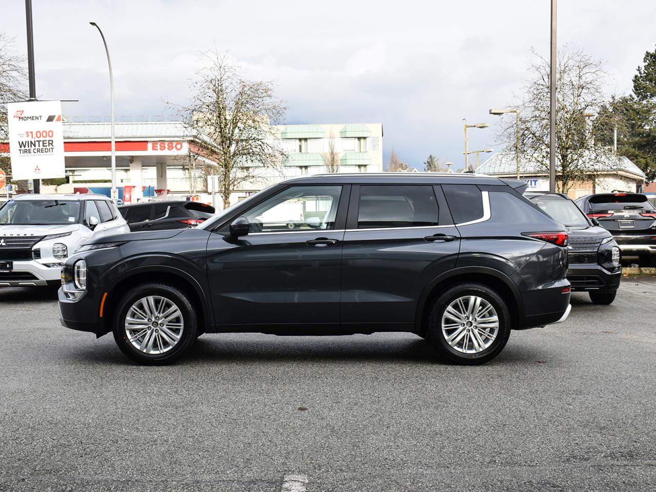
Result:
[[167,200],[121,205],[119,211],[131,231],[157,231],[195,227],[214,215],[215,208],[198,201]]

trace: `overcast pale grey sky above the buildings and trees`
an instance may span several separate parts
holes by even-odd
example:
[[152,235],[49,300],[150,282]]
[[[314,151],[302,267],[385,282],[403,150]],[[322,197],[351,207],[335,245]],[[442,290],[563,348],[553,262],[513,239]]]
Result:
[[[434,154],[459,168],[463,117],[492,125],[470,131],[470,150],[501,150],[487,111],[512,104],[531,47],[548,54],[549,16],[548,0],[33,0],[37,92],[79,99],[64,103],[68,115],[109,114],[95,21],[118,115],[167,113],[198,52],[216,46],[250,77],[276,81],[287,123],[382,123],[385,158],[394,147],[415,167]],[[604,60],[609,91],[626,92],[655,47],[655,19],[653,0],[561,0],[558,44]],[[3,2],[0,30],[26,52],[22,0]]]

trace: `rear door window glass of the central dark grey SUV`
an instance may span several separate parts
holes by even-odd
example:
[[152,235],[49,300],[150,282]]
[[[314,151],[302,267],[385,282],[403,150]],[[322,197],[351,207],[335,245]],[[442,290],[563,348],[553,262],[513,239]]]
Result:
[[363,185],[358,229],[437,226],[438,202],[430,185]]

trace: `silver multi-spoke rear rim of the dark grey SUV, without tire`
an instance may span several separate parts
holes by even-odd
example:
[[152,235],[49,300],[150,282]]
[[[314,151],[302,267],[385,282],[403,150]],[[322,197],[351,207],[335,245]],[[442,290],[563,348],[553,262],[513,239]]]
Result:
[[459,297],[442,315],[442,334],[447,343],[463,354],[478,354],[488,348],[499,333],[499,316],[482,297]]

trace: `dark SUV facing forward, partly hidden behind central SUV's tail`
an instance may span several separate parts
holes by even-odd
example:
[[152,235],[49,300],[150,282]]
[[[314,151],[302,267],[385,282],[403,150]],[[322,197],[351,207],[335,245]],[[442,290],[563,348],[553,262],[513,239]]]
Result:
[[588,292],[594,304],[611,304],[622,278],[620,251],[611,233],[594,224],[567,195],[527,192],[524,196],[567,228],[567,280],[572,290]]

